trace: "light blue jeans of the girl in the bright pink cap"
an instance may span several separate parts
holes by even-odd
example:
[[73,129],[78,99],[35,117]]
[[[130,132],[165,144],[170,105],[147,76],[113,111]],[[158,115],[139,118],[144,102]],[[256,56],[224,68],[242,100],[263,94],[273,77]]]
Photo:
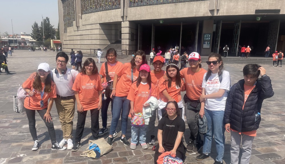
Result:
[[144,126],[132,126],[132,139],[131,143],[137,144],[138,143],[138,137],[139,137],[139,142],[140,144],[145,143],[146,140],[146,129],[147,125]]

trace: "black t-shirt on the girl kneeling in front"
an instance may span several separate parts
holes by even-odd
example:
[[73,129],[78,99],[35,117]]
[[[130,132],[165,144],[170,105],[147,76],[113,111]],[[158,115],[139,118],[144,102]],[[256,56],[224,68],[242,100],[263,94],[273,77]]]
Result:
[[162,144],[166,143],[174,146],[178,132],[185,132],[185,122],[179,116],[174,120],[170,120],[168,116],[166,116],[159,121],[158,129],[163,130]]

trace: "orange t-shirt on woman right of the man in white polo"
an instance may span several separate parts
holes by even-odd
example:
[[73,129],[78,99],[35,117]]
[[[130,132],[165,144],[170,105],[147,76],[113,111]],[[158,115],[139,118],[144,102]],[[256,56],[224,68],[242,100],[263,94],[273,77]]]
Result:
[[72,90],[79,92],[79,100],[84,111],[98,108],[99,93],[102,92],[99,74],[90,76],[79,73],[74,81]]

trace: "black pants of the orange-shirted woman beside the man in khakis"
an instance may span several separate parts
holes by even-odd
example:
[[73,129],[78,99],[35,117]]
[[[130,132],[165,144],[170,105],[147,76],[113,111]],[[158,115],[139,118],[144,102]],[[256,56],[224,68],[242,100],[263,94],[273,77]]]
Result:
[[[99,133],[99,110],[96,108],[89,111],[91,114],[91,133],[93,135],[93,138],[97,139]],[[80,142],[84,131],[87,111],[83,111],[82,113],[77,111],[77,114],[78,117],[76,124],[75,142]]]

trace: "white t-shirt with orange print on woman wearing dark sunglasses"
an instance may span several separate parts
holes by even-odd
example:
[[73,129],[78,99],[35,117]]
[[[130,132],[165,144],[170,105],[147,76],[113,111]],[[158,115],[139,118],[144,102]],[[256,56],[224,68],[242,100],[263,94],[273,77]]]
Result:
[[228,96],[228,92],[231,86],[231,78],[228,71],[223,71],[223,79],[220,83],[218,73],[211,74],[209,79],[206,82],[206,74],[204,74],[202,88],[205,88],[205,94],[209,95],[212,93],[216,93],[219,89],[225,89],[226,92],[222,97],[216,99],[206,99],[205,108],[210,111],[225,111],[226,100]]

